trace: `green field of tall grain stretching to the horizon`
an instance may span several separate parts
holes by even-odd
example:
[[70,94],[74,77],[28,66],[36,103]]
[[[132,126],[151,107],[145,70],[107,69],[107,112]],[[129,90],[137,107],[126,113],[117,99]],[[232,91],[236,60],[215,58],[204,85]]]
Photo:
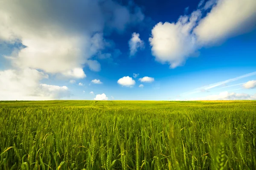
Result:
[[256,169],[256,102],[0,101],[0,169]]

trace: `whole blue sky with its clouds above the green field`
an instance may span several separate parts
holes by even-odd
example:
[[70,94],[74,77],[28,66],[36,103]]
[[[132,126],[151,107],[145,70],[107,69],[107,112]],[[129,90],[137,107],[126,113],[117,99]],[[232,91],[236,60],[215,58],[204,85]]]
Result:
[[256,100],[255,0],[0,0],[0,100]]

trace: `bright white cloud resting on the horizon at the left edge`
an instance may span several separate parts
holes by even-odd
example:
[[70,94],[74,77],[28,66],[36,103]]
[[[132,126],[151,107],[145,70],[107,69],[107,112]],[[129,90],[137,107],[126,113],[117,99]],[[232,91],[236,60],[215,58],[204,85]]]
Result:
[[40,84],[48,75],[35,69],[0,71],[0,100],[50,100],[69,97],[66,86]]

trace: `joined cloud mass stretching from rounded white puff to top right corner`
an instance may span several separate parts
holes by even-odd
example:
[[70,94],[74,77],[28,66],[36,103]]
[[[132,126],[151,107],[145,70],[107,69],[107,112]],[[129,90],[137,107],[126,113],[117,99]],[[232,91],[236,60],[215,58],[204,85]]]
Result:
[[[201,18],[207,8],[211,8],[210,12]],[[176,23],[157,23],[149,38],[152,54],[157,61],[176,68],[188,57],[196,56],[203,46],[220,43],[255,27],[255,8],[255,0],[209,0],[190,16],[180,16]]]

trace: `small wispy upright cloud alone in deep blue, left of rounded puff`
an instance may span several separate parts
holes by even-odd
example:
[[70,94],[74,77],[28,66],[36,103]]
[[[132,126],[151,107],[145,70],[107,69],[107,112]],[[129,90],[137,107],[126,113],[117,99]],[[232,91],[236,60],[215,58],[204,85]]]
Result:
[[144,48],[144,42],[143,40],[140,40],[140,34],[135,32],[131,35],[131,39],[129,40],[128,44],[130,47],[130,56],[134,56],[139,48]]

